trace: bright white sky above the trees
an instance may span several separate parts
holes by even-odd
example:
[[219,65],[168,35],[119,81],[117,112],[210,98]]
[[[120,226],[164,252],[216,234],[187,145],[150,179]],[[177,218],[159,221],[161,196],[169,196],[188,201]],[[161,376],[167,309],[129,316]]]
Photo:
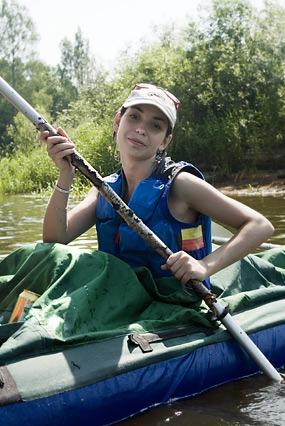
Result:
[[[40,59],[48,65],[60,62],[60,42],[81,28],[89,40],[90,53],[110,69],[126,48],[135,49],[150,38],[151,27],[175,22],[182,27],[187,17],[195,19],[198,7],[209,0],[18,0],[26,6],[40,36]],[[276,0],[285,6],[285,0]],[[251,0],[261,8],[263,0]]]

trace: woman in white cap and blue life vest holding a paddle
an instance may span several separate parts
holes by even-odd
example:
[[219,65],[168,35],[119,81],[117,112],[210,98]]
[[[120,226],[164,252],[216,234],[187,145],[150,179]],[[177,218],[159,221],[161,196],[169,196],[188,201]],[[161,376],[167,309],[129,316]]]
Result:
[[[122,168],[106,178],[150,229],[174,252],[167,261],[129,229],[93,187],[68,210],[75,169],[69,155],[75,145],[62,128],[58,136],[40,134],[59,169],[48,203],[43,241],[68,244],[96,224],[99,249],[131,266],[147,266],[154,278],[174,275],[209,287],[209,277],[252,252],[273,233],[260,213],[207,183],[192,164],[166,157],[173,138],[179,100],[150,84],[137,84],[113,124]],[[236,230],[221,247],[211,249],[211,219]]]

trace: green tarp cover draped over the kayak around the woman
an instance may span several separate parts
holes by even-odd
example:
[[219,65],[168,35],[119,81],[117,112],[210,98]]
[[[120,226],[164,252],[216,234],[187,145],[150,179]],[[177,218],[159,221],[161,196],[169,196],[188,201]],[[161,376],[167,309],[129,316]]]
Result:
[[[211,282],[232,314],[265,306],[264,321],[250,322],[246,331],[285,322],[285,247],[249,255]],[[204,302],[175,278],[153,280],[148,269],[98,251],[41,243],[7,256],[0,263],[0,323],[8,322],[24,289],[41,296],[0,348],[2,361],[132,332],[213,326]],[[9,327],[0,326],[0,339]]]

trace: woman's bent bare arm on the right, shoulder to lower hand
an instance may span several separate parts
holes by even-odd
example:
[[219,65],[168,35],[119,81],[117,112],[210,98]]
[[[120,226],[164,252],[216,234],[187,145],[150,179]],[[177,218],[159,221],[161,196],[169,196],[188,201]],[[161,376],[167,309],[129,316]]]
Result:
[[169,257],[167,267],[183,283],[189,279],[202,281],[242,259],[266,241],[274,231],[271,223],[260,213],[225,196],[189,173],[180,173],[174,181],[169,208],[178,220],[183,221],[183,218],[188,217],[195,221],[197,212],[200,212],[236,229],[227,243],[202,260],[197,261],[185,252]]

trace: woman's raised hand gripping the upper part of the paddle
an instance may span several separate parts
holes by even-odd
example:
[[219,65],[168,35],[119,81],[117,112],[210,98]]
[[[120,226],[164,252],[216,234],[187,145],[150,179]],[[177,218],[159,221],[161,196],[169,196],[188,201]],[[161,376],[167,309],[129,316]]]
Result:
[[67,157],[75,152],[75,145],[61,127],[57,131],[59,136],[49,136],[47,130],[42,132],[40,140],[46,144],[48,155],[59,171],[74,176],[75,168]]

